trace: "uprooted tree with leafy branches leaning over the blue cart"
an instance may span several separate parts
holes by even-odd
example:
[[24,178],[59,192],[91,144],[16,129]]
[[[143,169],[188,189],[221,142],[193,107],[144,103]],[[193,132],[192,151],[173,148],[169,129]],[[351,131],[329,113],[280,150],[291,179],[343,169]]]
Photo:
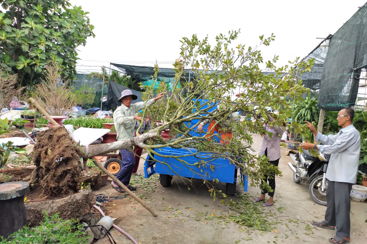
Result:
[[[181,57],[174,64],[176,76],[172,91],[168,92],[165,100],[158,101],[153,106],[143,110],[142,119],[149,113],[153,117],[151,120],[161,120],[163,125],[153,125],[155,127],[149,132],[131,139],[90,146],[88,157],[117,149],[129,150],[134,145],[146,149],[151,158],[154,158],[155,155],[172,157],[160,154],[158,149],[163,147],[196,148],[197,152],[210,152],[208,157],[200,156],[197,152],[187,151],[191,152],[189,155],[198,158],[194,164],[197,170],[192,170],[192,173],[202,177],[204,177],[202,169],[209,167],[209,162],[215,158],[224,157],[241,169],[244,174],[247,174],[251,185],[260,184],[264,174],[280,175],[281,172],[278,168],[269,164],[265,156],[261,157],[251,153],[253,142],[250,132],[268,133],[263,129],[263,123],[270,126],[284,126],[284,120],[292,112],[292,107],[287,103],[286,97],[288,96],[297,102],[302,99],[302,93],[308,92],[308,89],[301,85],[301,80],[298,77],[309,71],[314,62],[312,60],[298,62],[297,58],[296,61],[289,62],[289,66],[278,68],[275,67],[278,57],[275,56],[273,60],[264,64],[259,46],[268,46],[274,41],[275,36],[273,34],[269,38],[260,36],[260,43],[255,48],[246,48],[245,45],[241,44],[232,45],[238,34],[239,31],[230,31],[228,36],[221,34],[216,37],[214,46],[208,43],[207,37],[202,41],[198,40],[196,35],[193,35],[191,39],[183,38]],[[187,67],[191,67],[194,73],[191,80],[186,80],[183,76]],[[158,66],[155,69],[157,74]],[[238,88],[244,92],[235,100],[231,100],[230,94]],[[165,89],[164,84],[162,84],[155,91],[166,91]],[[144,93],[146,100],[153,98],[153,93],[153,89],[148,88]],[[198,103],[197,99],[205,100]],[[218,103],[221,104],[219,109],[213,111]],[[270,115],[267,112],[269,107],[280,112],[277,115]],[[250,120],[231,121],[233,136],[229,143],[220,144],[214,140],[207,140],[207,136],[216,136],[207,132],[196,136],[192,135],[203,119],[217,120],[217,123],[220,124],[227,119],[229,113],[237,111],[241,111]],[[306,130],[304,126],[297,123],[293,123],[292,126],[300,133]],[[167,129],[175,135],[173,136],[175,138],[164,141],[161,132]],[[272,133],[268,134],[272,135]],[[174,157],[182,164],[192,166],[193,164],[185,161],[186,156]],[[172,170],[169,163],[154,160]],[[211,170],[216,169],[211,168]],[[215,199],[216,191],[213,185],[208,181],[206,184],[212,189],[211,192]],[[267,184],[264,184],[263,187],[270,189]],[[223,193],[221,194],[225,196]]]

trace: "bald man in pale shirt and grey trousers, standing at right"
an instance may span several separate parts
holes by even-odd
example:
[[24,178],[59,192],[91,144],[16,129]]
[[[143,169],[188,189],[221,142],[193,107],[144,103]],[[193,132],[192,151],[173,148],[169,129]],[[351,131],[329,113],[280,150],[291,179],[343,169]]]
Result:
[[324,145],[314,145],[312,143],[302,143],[301,148],[309,150],[314,148],[323,154],[331,154],[326,170],[327,208],[325,220],[313,222],[314,225],[335,229],[336,235],[330,238],[331,243],[349,243],[350,241],[350,199],[349,194],[352,185],[357,182],[357,170],[359,164],[359,154],[361,151],[360,133],[352,125],[354,111],[345,108],[338,113],[338,125],[343,129],[336,135],[323,135],[315,127],[307,122],[307,127],[316,136],[316,141]]

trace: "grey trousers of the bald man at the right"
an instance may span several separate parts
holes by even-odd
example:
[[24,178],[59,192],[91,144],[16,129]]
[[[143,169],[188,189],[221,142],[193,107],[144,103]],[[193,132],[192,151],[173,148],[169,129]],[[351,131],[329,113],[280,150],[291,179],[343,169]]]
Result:
[[350,198],[352,183],[327,180],[325,223],[336,227],[336,236],[350,235]]

